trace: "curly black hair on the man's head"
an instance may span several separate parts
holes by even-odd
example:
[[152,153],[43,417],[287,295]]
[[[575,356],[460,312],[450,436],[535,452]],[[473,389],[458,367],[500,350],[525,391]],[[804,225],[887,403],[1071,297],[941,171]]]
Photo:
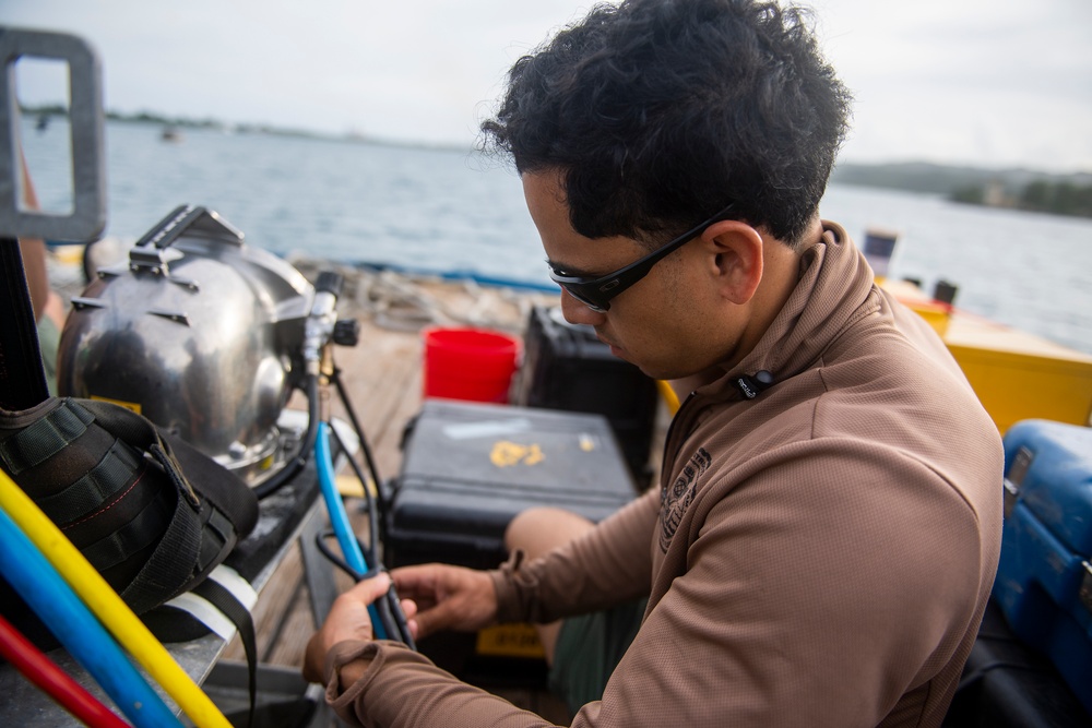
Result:
[[484,146],[561,171],[590,238],[651,244],[732,202],[797,246],[851,103],[808,21],[757,0],[598,5],[515,62]]

